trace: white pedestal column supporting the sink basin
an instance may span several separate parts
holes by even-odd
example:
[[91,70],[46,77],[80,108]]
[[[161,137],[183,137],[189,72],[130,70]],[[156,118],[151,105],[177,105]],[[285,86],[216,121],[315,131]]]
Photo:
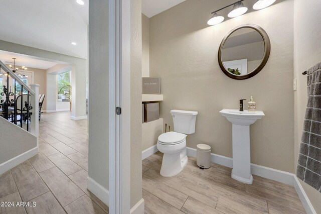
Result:
[[250,126],[233,124],[233,169],[232,178],[243,183],[252,184]]

